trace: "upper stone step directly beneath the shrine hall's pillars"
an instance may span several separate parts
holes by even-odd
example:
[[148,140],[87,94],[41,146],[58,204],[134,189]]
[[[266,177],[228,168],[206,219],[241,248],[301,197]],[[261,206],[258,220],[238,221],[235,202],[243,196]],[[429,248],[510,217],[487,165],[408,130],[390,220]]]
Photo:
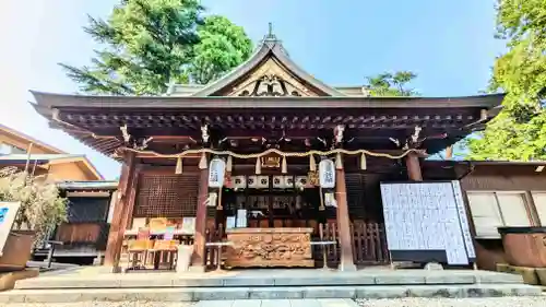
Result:
[[518,284],[518,274],[487,271],[358,271],[355,273],[307,271],[274,274],[226,273],[183,275],[176,273],[128,273],[102,275],[39,276],[17,281],[15,288],[147,288],[147,287],[257,287],[340,286],[407,284]]

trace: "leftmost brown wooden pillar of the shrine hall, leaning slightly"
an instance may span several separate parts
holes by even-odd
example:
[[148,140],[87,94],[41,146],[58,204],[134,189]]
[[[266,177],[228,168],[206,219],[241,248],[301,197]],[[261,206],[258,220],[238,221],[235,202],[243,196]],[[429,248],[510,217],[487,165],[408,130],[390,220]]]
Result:
[[127,214],[132,212],[129,206],[132,206],[134,197],[131,202],[131,193],[135,187],[135,153],[126,152],[123,155],[123,165],[121,166],[121,177],[119,180],[119,188],[117,193],[117,203],[114,209],[114,216],[110,223],[110,231],[108,234],[108,244],[106,246],[105,265],[112,267],[117,272],[119,269],[119,258],[121,256],[121,247],[123,244],[123,235],[127,227],[129,217]]

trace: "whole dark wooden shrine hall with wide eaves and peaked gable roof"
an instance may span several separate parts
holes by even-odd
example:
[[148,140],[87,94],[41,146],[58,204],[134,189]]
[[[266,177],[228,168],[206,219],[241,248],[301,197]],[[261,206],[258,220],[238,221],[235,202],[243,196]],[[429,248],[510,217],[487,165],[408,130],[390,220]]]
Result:
[[162,96],[33,94],[51,127],[122,163],[105,264],[120,265],[141,228],[154,237],[159,227],[171,232],[167,249],[193,246],[195,269],[389,263],[380,182],[423,180],[420,161],[483,129],[503,98],[329,86],[272,34],[206,85]]

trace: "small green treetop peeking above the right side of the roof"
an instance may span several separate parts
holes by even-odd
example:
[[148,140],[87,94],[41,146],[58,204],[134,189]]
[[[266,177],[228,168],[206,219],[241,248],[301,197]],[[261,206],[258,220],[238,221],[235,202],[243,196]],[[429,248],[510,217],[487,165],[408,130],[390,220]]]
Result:
[[366,80],[371,96],[416,96],[413,88],[406,88],[407,83],[412,82],[417,74],[411,71],[397,71],[394,74],[384,72],[376,76],[367,76]]

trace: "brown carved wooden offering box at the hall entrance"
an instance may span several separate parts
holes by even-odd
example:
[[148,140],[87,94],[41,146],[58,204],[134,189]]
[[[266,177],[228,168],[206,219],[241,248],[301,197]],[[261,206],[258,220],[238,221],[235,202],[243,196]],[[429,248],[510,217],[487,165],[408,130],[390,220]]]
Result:
[[227,267],[313,267],[312,228],[228,231]]

